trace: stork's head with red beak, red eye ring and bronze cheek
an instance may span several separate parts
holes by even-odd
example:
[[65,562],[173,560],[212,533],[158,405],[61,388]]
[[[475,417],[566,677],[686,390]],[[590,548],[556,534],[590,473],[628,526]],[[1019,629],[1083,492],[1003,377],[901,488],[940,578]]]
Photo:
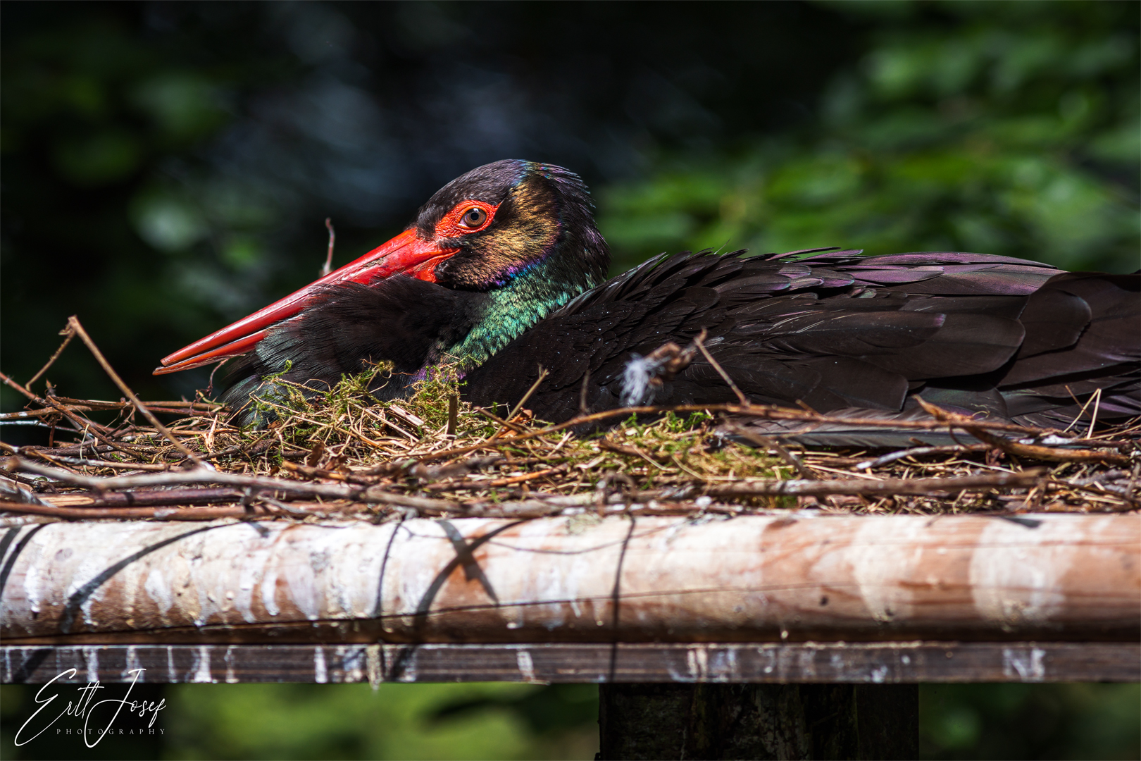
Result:
[[520,298],[542,300],[550,298],[544,289],[565,294],[597,285],[608,265],[609,250],[577,175],[552,164],[496,161],[437,191],[393,240],[164,357],[154,372],[245,354],[267,331],[301,316],[338,283],[379,286],[403,274],[450,289],[495,292],[527,281],[531,286]]

